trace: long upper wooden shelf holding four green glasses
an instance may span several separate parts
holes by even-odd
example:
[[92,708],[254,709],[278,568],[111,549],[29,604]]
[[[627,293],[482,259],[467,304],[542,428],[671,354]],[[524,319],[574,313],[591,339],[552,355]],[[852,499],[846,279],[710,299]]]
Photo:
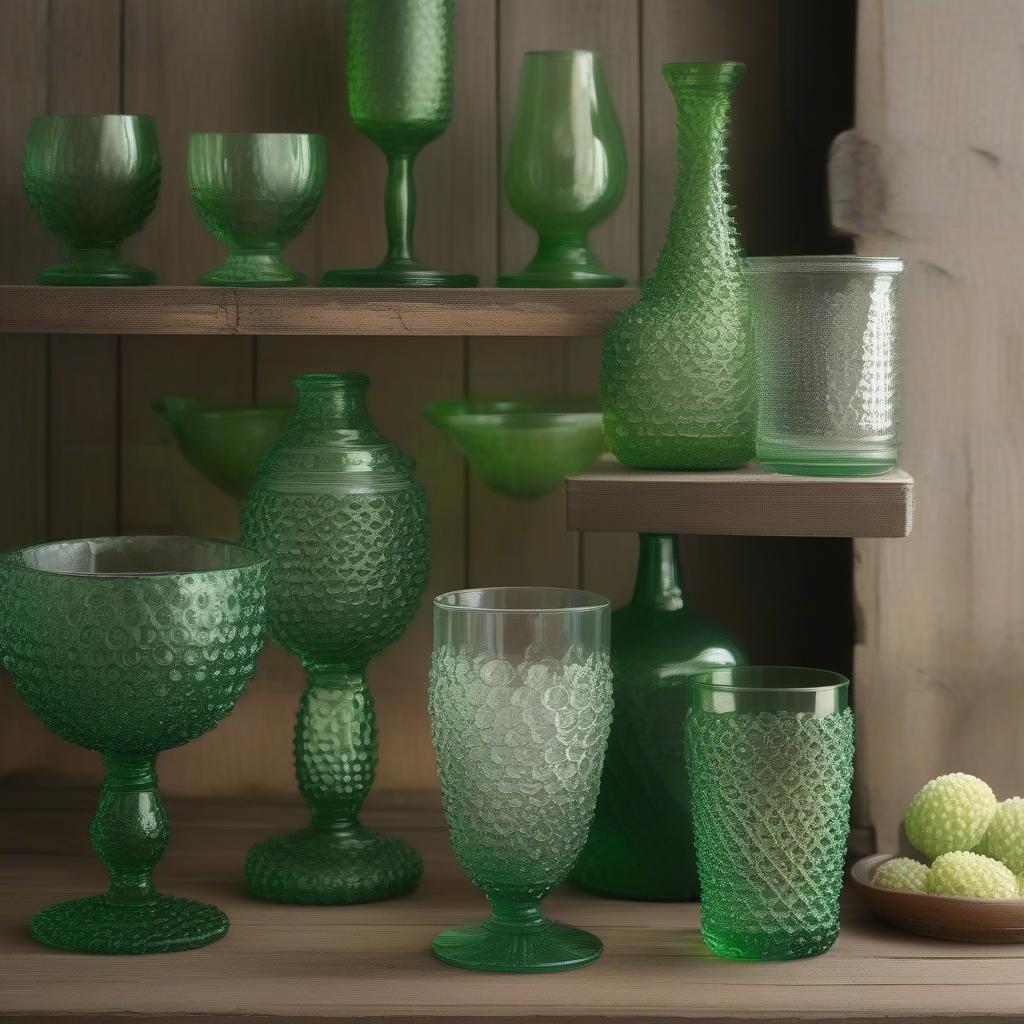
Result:
[[0,286],[0,334],[539,335],[607,330],[634,288]]

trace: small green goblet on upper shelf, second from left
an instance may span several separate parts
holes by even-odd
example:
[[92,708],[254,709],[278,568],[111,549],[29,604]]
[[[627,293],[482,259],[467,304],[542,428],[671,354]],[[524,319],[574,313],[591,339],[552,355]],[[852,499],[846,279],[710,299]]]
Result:
[[306,276],[289,266],[285,245],[305,226],[324,190],[323,135],[188,136],[188,189],[200,220],[227,244],[227,260],[201,285],[281,288]]

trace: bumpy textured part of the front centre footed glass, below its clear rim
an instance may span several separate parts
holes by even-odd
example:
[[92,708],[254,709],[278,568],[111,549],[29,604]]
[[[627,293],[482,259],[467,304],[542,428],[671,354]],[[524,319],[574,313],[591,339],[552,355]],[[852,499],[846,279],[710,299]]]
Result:
[[490,897],[538,900],[587,839],[611,724],[608,655],[518,665],[441,646],[430,718],[452,845]]

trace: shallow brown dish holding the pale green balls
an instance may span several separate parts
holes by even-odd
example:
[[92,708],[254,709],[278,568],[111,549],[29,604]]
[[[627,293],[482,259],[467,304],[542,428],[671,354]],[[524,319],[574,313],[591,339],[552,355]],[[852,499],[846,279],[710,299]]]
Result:
[[954,942],[1024,942],[1024,899],[974,899],[905,893],[871,885],[879,864],[894,853],[862,857],[850,870],[854,889],[868,908],[918,935]]

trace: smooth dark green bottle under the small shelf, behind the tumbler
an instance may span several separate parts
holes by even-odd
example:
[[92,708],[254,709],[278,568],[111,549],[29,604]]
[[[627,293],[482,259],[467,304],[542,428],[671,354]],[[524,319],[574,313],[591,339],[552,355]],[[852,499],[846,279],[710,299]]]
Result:
[[625,899],[697,898],[683,745],[687,679],[745,660],[730,630],[687,606],[679,539],[641,534],[633,600],[611,613],[615,709],[573,881]]

